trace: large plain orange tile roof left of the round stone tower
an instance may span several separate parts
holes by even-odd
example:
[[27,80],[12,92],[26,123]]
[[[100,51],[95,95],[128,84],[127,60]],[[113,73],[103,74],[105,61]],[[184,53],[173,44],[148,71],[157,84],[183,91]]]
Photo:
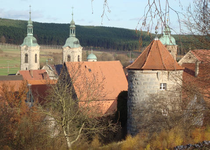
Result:
[[[91,100],[102,114],[116,110],[115,100],[128,83],[119,61],[65,62],[80,104]],[[113,106],[114,105],[114,106]]]

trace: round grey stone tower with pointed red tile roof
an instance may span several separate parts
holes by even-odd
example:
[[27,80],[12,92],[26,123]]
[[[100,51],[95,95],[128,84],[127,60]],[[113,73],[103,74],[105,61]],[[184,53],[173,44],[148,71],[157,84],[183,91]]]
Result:
[[[144,110],[152,97],[164,97],[168,101],[181,99],[179,87],[182,85],[183,68],[156,38],[127,69],[127,131],[128,134],[135,135],[144,125],[143,118],[147,116]],[[155,107],[153,103],[152,107]],[[148,110],[150,109],[147,108]]]

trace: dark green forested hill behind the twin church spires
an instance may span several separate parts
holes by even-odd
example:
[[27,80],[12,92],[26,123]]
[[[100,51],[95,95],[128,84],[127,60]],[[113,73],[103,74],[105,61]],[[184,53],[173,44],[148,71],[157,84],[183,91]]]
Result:
[[[39,44],[64,45],[69,37],[69,24],[33,22],[34,36]],[[27,21],[0,18],[0,38],[7,43],[22,44],[26,36]],[[76,37],[83,47],[94,46],[105,49],[134,50],[139,48],[139,37],[146,46],[151,38],[145,32],[135,30],[76,25]],[[1,39],[0,39],[1,40]],[[0,41],[1,42],[1,41]]]

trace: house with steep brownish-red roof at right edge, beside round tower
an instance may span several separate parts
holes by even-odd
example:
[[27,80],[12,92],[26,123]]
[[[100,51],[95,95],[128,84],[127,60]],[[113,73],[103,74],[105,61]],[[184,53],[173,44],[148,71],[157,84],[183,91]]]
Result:
[[209,116],[205,112],[210,106],[210,64],[184,63],[182,66],[185,67],[182,99],[189,102],[187,110],[191,112],[188,112],[188,116],[189,114],[194,116],[194,119],[190,119],[188,122],[202,126],[209,120]]

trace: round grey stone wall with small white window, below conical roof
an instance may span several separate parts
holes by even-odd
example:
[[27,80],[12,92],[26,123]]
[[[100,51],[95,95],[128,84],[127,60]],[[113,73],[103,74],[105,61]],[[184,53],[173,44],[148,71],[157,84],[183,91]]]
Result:
[[[143,125],[144,110],[152,96],[164,96],[167,100],[181,99],[183,71],[128,71],[128,134],[135,135]],[[161,90],[160,83],[166,83],[167,89]],[[173,106],[174,107],[174,106]]]

